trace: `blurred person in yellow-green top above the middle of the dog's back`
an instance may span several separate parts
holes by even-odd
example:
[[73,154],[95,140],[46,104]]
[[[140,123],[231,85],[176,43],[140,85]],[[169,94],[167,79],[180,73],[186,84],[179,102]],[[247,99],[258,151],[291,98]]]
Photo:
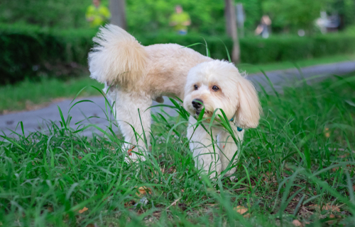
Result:
[[190,24],[191,19],[189,14],[182,11],[182,6],[175,6],[175,13],[170,16],[169,25],[173,26],[179,35],[186,35],[187,26]]

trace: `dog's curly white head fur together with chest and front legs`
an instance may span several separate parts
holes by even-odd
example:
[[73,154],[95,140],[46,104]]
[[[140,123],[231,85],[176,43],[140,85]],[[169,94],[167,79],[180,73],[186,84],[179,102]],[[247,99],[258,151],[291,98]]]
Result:
[[[214,87],[218,89],[215,91]],[[234,64],[214,60],[190,69],[185,85],[184,107],[192,116],[197,116],[202,106],[194,107],[194,100],[203,103],[204,117],[212,117],[215,110],[222,109],[228,120],[233,119],[231,128],[239,141],[243,139],[244,130],[238,132],[237,127],[246,129],[258,126],[261,105],[256,90],[250,81],[239,74]],[[222,112],[218,110],[216,114],[222,115]],[[238,150],[236,143],[218,124],[212,127],[213,137],[201,125],[196,128],[197,121],[192,116],[187,137],[192,138],[190,149],[194,153],[196,163],[199,163],[197,165],[206,171],[221,173]],[[209,127],[208,124],[205,126]],[[231,168],[228,174],[234,171],[235,168]]]

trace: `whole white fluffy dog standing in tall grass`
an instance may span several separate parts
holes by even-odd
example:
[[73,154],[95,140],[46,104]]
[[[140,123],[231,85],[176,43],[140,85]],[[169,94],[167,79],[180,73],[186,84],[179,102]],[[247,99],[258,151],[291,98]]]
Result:
[[[135,146],[128,155],[132,161],[144,160],[151,134],[151,112],[147,108],[152,100],[162,102],[162,95],[184,100],[185,109],[192,115],[198,115],[203,106],[204,117],[211,117],[217,108],[224,110],[240,140],[244,130],[239,132],[237,127],[258,126],[261,107],[255,88],[234,64],[176,44],[144,47],[116,25],[100,28],[94,42],[97,45],[89,53],[89,71],[92,78],[105,83],[104,91],[109,88],[107,96],[114,103],[116,120],[126,141],[124,149]],[[237,146],[217,124],[212,127],[217,141],[212,141],[201,125],[194,128],[195,122],[191,116],[187,136],[192,138],[190,148],[196,164],[220,173]],[[218,149],[212,149],[212,142]]]

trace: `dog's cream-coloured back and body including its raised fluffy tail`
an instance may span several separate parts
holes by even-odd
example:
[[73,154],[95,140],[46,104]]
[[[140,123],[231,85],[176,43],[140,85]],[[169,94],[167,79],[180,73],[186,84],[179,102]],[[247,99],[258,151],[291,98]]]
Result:
[[177,44],[144,47],[116,25],[100,28],[93,40],[97,45],[89,53],[92,78],[155,97],[183,98],[187,72],[197,64],[212,60]]

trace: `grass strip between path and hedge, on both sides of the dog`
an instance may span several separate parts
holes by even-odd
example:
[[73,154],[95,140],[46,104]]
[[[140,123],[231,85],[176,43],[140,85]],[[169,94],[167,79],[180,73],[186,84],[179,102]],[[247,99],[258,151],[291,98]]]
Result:
[[[272,64],[240,64],[238,67],[247,74],[255,74],[264,71],[292,69],[295,65],[300,67],[312,66],[317,64],[329,64],[334,62],[344,62],[355,60],[355,55],[338,55],[324,57],[320,59],[307,59],[298,62],[278,62]],[[50,78],[40,82],[23,81],[15,85],[0,86],[0,114],[18,110],[33,110],[53,102],[58,98],[74,98],[78,91],[84,86],[96,86],[103,88],[97,81],[84,75],[80,78],[73,78],[69,81],[60,81]],[[97,95],[94,88],[87,88],[80,94],[81,96]],[[40,105],[40,106],[38,106]]]

